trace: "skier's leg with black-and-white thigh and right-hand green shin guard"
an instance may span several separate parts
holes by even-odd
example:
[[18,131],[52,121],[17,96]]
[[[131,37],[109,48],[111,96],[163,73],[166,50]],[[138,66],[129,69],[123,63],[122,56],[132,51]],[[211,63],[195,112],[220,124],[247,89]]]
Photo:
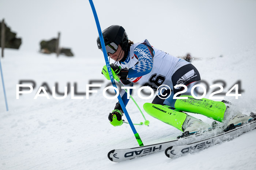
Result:
[[[224,112],[226,110],[226,106],[223,102],[216,102],[214,100],[209,100],[206,98],[202,99],[195,99],[192,96],[192,88],[193,86],[200,84],[200,75],[199,72],[196,70],[196,68],[191,64],[191,65],[186,65],[183,66],[184,69],[186,68],[187,70],[193,70],[193,71],[188,71],[187,73],[184,74],[184,70],[178,69],[172,76],[172,82],[177,82],[180,83],[180,79],[184,77],[188,77],[190,75],[190,78],[187,78],[186,81],[180,83],[184,84],[187,86],[187,91],[182,93],[179,97],[188,97],[188,99],[173,99],[172,104],[174,102],[174,106],[176,109],[180,111],[187,111],[187,112],[193,112],[193,113],[198,113],[205,115],[209,118],[212,118],[214,120],[217,120],[221,122],[224,117]],[[181,67],[181,68],[183,68]],[[186,71],[185,71],[186,72]],[[193,73],[194,72],[194,73]],[[189,73],[189,74],[188,74]],[[183,76],[181,76],[184,74]],[[197,75],[197,76],[195,76]],[[181,78],[180,78],[181,77]],[[176,85],[177,85],[176,84]],[[174,85],[175,86],[175,85]],[[174,88],[173,87],[173,92],[176,94],[177,92],[182,91],[184,88]],[[194,88],[193,94],[197,96],[199,87]],[[169,99],[172,100],[172,99]]]

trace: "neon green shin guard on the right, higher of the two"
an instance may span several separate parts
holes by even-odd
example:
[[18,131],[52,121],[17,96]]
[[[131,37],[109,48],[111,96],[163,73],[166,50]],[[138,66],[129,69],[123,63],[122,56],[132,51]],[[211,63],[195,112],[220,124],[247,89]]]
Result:
[[223,102],[216,102],[206,98],[195,99],[190,95],[182,95],[180,97],[188,97],[188,99],[177,99],[174,104],[176,109],[201,114],[222,122],[226,111],[226,105]]

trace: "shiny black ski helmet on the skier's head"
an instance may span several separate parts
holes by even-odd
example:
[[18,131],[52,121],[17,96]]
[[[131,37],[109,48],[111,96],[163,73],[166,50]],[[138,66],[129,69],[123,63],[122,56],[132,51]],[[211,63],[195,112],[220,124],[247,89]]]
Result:
[[[126,51],[128,48],[128,36],[125,29],[120,25],[112,25],[102,31],[103,39],[105,42],[107,53],[113,54],[116,52],[118,45],[122,50]],[[98,48],[102,51],[101,41],[97,37]]]

